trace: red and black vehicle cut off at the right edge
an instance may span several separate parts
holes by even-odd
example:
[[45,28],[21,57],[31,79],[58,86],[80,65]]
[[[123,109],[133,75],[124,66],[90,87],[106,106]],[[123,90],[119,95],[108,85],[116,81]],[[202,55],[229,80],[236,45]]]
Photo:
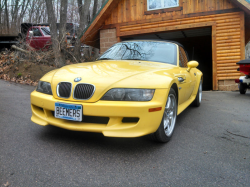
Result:
[[241,60],[236,64],[240,65],[238,71],[244,73],[245,76],[235,79],[235,82],[239,84],[240,93],[245,94],[247,89],[250,89],[250,58]]

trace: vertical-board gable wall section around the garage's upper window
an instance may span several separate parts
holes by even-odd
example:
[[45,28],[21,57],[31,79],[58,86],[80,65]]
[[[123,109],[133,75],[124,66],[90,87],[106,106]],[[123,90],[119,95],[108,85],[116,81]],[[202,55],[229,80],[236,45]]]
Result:
[[182,10],[144,14],[147,12],[145,10],[146,0],[120,0],[118,6],[113,9],[110,17],[105,21],[105,25],[150,20],[154,18],[173,18],[191,13],[237,8],[228,0],[179,0],[179,4]]

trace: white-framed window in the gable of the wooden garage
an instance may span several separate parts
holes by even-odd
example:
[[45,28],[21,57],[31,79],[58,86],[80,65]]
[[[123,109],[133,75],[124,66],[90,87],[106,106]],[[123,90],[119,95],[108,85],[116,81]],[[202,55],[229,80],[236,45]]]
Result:
[[179,0],[147,0],[147,10],[159,10],[179,6]]

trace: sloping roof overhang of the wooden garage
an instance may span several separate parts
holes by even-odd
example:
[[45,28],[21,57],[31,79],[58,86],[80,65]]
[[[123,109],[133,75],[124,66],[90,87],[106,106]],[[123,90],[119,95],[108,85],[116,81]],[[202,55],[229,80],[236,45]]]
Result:
[[[250,16],[249,0],[229,0]],[[109,17],[112,10],[118,5],[120,0],[106,0],[99,12],[92,19],[87,28],[84,29],[81,37],[81,42],[93,47],[100,48],[99,30],[104,26],[105,20]]]

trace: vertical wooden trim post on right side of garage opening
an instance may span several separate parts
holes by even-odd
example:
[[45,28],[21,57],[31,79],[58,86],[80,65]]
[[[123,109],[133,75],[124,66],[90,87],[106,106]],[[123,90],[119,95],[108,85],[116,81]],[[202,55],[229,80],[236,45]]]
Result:
[[217,50],[216,50],[216,24],[212,25],[212,55],[213,55],[213,90],[218,90],[217,81]]

